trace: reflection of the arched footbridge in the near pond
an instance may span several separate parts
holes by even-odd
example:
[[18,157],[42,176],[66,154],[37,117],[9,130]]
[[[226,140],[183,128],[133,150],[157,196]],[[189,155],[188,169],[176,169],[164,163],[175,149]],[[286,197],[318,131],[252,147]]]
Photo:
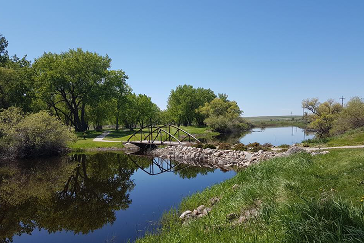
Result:
[[152,156],[128,155],[135,165],[149,175],[157,175],[165,172],[177,172],[190,167],[190,164],[181,163],[165,158]]

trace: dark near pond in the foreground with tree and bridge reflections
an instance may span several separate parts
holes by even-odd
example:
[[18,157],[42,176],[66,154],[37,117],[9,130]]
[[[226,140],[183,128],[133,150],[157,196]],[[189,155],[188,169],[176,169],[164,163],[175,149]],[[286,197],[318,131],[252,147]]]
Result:
[[235,173],[123,153],[0,167],[0,242],[123,243]]

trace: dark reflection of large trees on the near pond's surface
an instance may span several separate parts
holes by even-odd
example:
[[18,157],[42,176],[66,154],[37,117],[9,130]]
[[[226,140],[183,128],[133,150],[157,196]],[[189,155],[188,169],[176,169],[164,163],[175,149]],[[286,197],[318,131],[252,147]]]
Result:
[[[0,241],[35,228],[88,233],[131,204],[135,166],[122,154],[73,155],[69,161],[2,168]],[[70,170],[73,167],[75,169]]]

